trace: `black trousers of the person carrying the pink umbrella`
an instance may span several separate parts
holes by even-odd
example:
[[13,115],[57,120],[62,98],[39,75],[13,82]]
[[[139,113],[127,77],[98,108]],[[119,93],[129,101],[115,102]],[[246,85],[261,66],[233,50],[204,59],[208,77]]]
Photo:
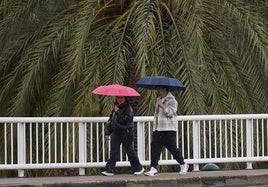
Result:
[[142,165],[140,164],[137,153],[134,151],[132,129],[114,131],[112,133],[110,158],[108,159],[105,168],[112,171],[114,170],[121,144],[125,148],[132,170],[134,172],[140,171]]

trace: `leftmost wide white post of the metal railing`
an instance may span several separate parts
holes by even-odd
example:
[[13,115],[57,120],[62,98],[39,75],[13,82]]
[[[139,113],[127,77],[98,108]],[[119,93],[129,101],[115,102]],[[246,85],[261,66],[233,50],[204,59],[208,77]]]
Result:
[[[18,164],[26,163],[26,144],[25,144],[25,123],[17,124],[17,148],[18,148]],[[24,170],[18,169],[18,177],[24,177]]]

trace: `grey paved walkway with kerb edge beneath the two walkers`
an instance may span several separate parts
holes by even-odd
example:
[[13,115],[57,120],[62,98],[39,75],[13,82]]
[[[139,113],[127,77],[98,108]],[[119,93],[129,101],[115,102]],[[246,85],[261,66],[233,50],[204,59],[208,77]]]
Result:
[[268,169],[228,170],[189,172],[186,175],[177,173],[159,173],[156,177],[144,175],[119,174],[112,177],[63,176],[35,178],[0,178],[0,186],[6,187],[268,187]]

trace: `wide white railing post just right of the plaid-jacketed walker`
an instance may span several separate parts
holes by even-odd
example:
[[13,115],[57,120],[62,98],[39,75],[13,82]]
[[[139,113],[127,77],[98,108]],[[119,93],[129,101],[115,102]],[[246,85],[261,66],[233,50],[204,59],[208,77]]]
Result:
[[[193,121],[193,156],[194,159],[200,158],[200,125],[199,121]],[[199,171],[199,164],[193,165],[193,171]]]

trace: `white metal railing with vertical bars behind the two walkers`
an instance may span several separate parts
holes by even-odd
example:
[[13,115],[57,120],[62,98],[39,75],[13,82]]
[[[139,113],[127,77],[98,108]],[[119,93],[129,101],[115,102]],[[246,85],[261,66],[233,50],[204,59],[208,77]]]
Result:
[[[109,142],[103,136],[108,117],[0,118],[0,170],[104,167]],[[136,147],[150,165],[152,116],[135,116]],[[268,161],[268,114],[178,116],[177,143],[193,164]],[[160,165],[176,164],[165,149]],[[129,166],[121,148],[117,166]]]

